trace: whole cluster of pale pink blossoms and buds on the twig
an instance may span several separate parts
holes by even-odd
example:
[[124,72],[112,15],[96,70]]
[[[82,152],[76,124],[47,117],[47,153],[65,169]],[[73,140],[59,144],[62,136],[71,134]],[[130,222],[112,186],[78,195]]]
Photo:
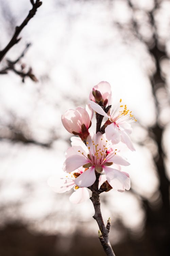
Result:
[[[100,82],[89,95],[86,108],[78,107],[68,110],[62,115],[62,123],[66,130],[79,137],[71,137],[71,147],[66,150],[62,177],[50,177],[48,184],[57,193],[74,189],[70,201],[80,203],[89,198],[88,187],[92,186],[99,176],[99,189],[116,189],[123,192],[130,189],[129,174],[121,171],[121,166],[130,163],[120,155],[120,141],[134,151],[129,137],[132,132],[130,123],[136,119],[126,105],[117,108],[111,105],[111,86]],[[93,112],[96,113],[97,132],[89,132]],[[107,120],[103,122],[103,118]]]

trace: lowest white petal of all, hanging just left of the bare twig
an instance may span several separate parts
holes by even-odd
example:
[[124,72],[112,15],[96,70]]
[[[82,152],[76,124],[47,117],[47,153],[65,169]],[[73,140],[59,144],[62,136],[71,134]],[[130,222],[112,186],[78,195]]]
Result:
[[85,187],[80,187],[72,193],[69,197],[71,203],[82,203],[89,199],[88,189]]

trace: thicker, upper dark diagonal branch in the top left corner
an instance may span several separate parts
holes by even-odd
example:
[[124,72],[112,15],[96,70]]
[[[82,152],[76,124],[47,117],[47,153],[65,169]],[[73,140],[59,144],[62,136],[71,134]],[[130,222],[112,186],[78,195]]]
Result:
[[20,34],[21,30],[27,25],[27,23],[29,22],[29,20],[31,18],[34,17],[37,9],[41,6],[42,2],[40,0],[36,0],[36,2],[34,3],[33,0],[30,0],[31,4],[32,4],[32,9],[29,11],[29,14],[27,15],[27,17],[24,19],[24,21],[21,23],[21,25],[18,27],[16,26],[15,28],[15,32],[13,34],[13,37],[11,38],[10,42],[6,45],[6,47],[0,51],[0,62],[3,59],[3,57],[5,56],[5,54],[15,45],[17,44],[21,38],[18,38],[18,35]]

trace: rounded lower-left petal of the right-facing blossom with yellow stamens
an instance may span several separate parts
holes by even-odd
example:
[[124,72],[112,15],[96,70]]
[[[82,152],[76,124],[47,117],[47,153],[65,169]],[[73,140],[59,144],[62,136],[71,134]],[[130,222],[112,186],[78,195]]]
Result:
[[120,131],[114,123],[108,125],[105,128],[106,138],[111,140],[113,144],[117,144],[120,142]]

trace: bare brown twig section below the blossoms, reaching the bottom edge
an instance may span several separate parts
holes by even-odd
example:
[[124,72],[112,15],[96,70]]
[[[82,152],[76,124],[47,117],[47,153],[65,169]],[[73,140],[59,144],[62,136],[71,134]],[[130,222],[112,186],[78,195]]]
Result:
[[98,190],[99,176],[100,176],[100,173],[96,173],[96,181],[91,187],[89,187],[90,190],[92,191],[92,196],[90,197],[90,200],[92,201],[94,208],[95,208],[95,215],[93,216],[93,218],[98,223],[98,226],[100,229],[99,233],[101,234],[99,236],[99,240],[103,246],[103,249],[104,249],[106,255],[107,256],[115,256],[112,246],[109,242],[109,237],[108,237],[109,229],[107,229],[105,227],[103,218],[102,218],[102,214],[101,214],[100,198],[99,198],[99,190]]

